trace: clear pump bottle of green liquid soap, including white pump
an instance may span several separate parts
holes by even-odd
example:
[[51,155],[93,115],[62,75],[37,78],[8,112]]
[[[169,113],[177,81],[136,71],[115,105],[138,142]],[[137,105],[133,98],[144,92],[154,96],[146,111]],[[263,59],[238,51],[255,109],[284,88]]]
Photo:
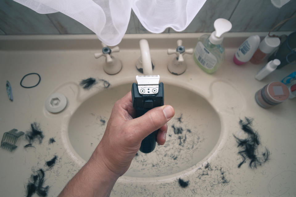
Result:
[[223,63],[225,50],[222,44],[223,34],[232,28],[231,22],[218,18],[214,22],[215,31],[202,35],[196,44],[193,59],[206,73],[214,73]]

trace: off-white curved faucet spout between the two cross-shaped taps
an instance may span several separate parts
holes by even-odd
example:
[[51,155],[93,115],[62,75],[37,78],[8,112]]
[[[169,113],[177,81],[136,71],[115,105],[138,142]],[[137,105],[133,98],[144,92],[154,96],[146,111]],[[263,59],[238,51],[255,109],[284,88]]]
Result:
[[146,39],[140,40],[140,50],[144,75],[152,75],[152,63],[149,50],[149,44]]

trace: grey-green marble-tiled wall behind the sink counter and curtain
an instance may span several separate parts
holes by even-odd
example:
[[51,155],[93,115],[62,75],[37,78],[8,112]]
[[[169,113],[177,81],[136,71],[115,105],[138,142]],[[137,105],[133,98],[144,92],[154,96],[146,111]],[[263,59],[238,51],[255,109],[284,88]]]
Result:
[[[212,32],[217,18],[232,22],[232,32],[269,31],[282,20],[296,14],[296,0],[281,9],[270,0],[207,0],[183,32]],[[296,17],[277,31],[295,31]],[[164,33],[175,32],[167,28]],[[134,12],[126,33],[148,33]],[[12,0],[0,0],[0,34],[93,34],[79,22],[61,13],[38,14]]]

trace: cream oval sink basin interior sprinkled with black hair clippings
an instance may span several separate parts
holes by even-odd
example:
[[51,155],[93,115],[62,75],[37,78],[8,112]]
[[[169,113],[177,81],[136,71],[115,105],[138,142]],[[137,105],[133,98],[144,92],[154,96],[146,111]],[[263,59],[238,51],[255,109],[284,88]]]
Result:
[[[85,100],[72,115],[68,135],[72,147],[87,161],[103,137],[114,103],[131,83],[105,89]],[[165,104],[175,109],[167,141],[149,154],[138,151],[125,176],[158,177],[186,170],[204,159],[218,142],[221,124],[213,107],[199,94],[165,83]]]

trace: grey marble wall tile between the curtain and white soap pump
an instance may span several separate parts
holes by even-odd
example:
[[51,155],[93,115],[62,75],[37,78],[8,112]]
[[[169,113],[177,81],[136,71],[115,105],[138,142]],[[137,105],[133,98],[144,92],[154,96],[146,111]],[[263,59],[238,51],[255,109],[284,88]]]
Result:
[[[182,32],[212,32],[217,18],[229,19],[239,0],[207,0]],[[170,31],[171,32],[171,31]]]

